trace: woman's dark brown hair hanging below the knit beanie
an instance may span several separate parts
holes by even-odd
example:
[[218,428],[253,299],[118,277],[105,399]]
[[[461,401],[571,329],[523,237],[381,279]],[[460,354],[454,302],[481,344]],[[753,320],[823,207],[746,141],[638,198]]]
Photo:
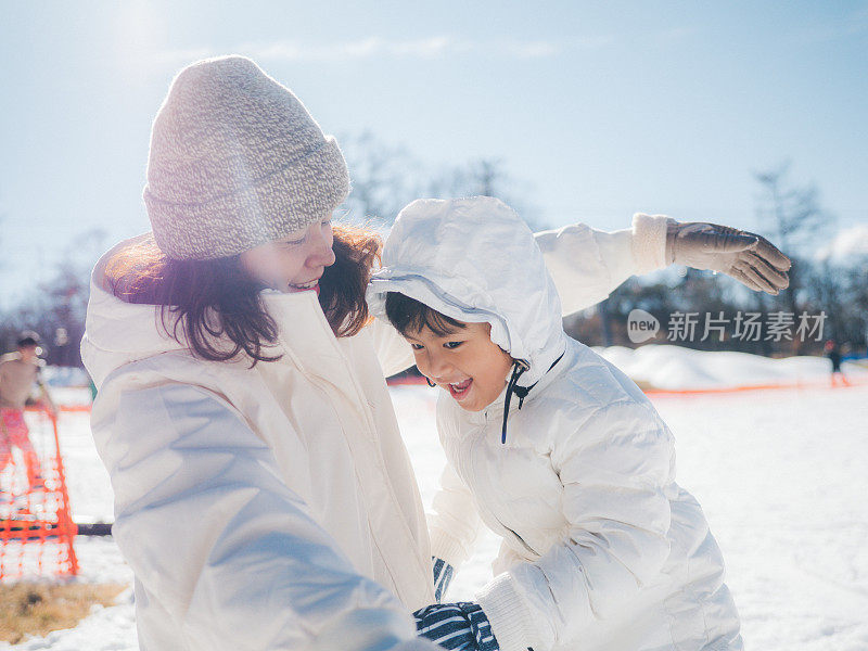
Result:
[[[334,227],[335,263],[320,278],[319,303],[335,336],[357,334],[368,322],[365,290],[381,248],[376,233]],[[239,257],[175,260],[148,238],[112,256],[105,278],[118,298],[161,306],[164,330],[197,357],[227,361],[243,353],[253,365],[275,361],[280,356],[265,348],[277,342],[278,326],[259,297],[261,283]]]

